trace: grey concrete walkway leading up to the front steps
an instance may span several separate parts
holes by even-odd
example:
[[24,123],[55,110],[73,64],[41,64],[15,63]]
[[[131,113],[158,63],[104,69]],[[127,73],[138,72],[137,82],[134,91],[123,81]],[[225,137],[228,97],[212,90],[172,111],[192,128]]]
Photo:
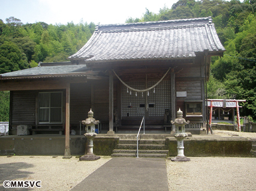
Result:
[[112,158],[71,190],[168,191],[165,159]]

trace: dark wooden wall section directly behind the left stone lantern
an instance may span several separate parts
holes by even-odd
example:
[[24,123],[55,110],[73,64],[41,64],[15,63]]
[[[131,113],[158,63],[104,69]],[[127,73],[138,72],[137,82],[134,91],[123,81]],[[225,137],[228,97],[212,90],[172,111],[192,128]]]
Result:
[[109,81],[71,84],[70,124],[78,126],[79,121],[88,118],[90,109],[96,120],[109,122]]

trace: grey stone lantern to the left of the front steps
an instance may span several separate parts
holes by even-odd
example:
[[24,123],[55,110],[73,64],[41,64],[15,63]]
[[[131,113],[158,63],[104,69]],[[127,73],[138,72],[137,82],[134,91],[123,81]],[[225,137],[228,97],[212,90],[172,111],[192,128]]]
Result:
[[95,133],[95,125],[98,125],[99,122],[100,121],[94,119],[92,109],[88,112],[88,118],[82,121],[82,123],[86,125],[85,137],[88,140],[88,150],[86,155],[79,158],[79,161],[96,161],[100,159],[100,156],[94,155],[94,137],[97,136],[97,133]]

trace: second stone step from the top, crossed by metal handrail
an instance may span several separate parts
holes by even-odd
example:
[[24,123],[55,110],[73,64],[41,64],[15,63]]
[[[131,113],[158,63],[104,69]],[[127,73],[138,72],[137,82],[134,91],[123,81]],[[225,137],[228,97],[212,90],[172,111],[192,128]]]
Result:
[[[115,149],[137,149],[137,144],[118,144]],[[142,144],[138,145],[139,150],[166,150],[167,146],[164,144]]]

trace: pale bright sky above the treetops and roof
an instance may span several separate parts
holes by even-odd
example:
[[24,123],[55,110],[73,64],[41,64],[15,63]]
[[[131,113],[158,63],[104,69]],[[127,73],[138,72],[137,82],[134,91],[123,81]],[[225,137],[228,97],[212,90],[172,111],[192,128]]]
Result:
[[88,24],[125,23],[129,17],[141,18],[146,8],[159,13],[171,8],[178,0],[0,0],[0,19],[15,17],[23,24],[42,21],[47,24],[67,24],[81,21]]

